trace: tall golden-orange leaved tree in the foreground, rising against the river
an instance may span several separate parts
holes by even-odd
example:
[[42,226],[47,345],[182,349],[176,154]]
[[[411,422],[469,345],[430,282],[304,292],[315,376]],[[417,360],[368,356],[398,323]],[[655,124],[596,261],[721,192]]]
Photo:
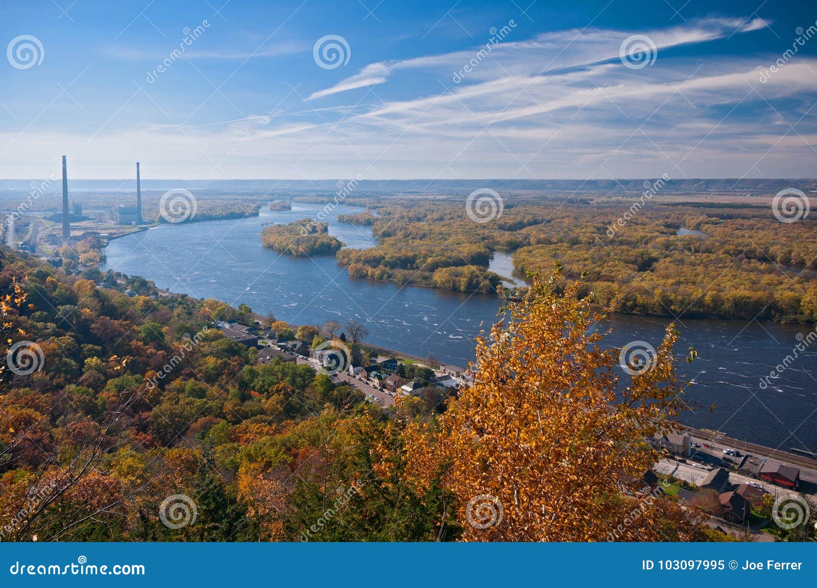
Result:
[[672,499],[622,490],[654,465],[645,438],[681,409],[677,334],[618,387],[619,351],[600,346],[580,287],[537,277],[480,338],[475,383],[438,420],[408,425],[409,481],[453,493],[465,541],[701,538]]

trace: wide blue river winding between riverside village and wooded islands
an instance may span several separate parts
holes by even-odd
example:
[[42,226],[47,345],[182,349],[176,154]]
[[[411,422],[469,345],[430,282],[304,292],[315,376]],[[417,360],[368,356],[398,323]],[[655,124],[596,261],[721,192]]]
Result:
[[[474,359],[474,338],[489,329],[499,301],[487,294],[462,294],[399,286],[350,277],[333,256],[296,258],[261,245],[266,223],[290,223],[315,217],[322,206],[293,203],[292,210],[240,220],[180,225],[163,224],[149,231],[111,241],[103,270],[144,276],[160,288],[195,298],[218,298],[233,306],[246,303],[261,314],[296,324],[320,325],[334,319],[365,321],[367,340],[417,356],[466,366]],[[342,206],[337,212],[362,209]],[[367,227],[329,218],[329,232],[346,245],[376,244]],[[510,259],[498,253],[491,268],[511,276]],[[667,320],[611,316],[605,339],[621,347],[645,341],[658,347]],[[691,380],[685,400],[695,408],[681,415],[694,427],[723,431],[757,443],[817,453],[817,345],[772,381],[766,390],[759,379],[792,354],[809,333],[804,326],[743,321],[683,320],[676,351],[699,351],[691,365],[681,362],[681,376]],[[717,405],[710,412],[709,405]]]

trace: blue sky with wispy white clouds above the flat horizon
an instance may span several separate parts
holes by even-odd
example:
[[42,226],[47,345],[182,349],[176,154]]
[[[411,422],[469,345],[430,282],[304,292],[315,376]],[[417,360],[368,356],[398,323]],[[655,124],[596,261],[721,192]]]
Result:
[[806,3],[224,2],[0,2],[0,178],[815,175]]

